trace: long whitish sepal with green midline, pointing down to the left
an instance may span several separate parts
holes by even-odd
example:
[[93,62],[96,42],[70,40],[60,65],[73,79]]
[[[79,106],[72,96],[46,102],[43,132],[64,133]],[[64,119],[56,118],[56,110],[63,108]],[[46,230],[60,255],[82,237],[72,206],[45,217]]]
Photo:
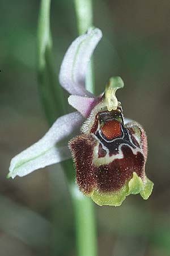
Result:
[[8,177],[25,176],[39,168],[69,159],[66,139],[82,123],[78,112],[59,117],[40,141],[28,147],[11,160]]

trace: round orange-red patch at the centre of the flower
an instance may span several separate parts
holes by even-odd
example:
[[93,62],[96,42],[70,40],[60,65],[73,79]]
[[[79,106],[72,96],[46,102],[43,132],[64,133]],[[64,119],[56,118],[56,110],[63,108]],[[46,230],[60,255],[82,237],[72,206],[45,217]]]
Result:
[[109,120],[101,127],[101,131],[105,138],[114,139],[121,136],[120,122],[117,120]]

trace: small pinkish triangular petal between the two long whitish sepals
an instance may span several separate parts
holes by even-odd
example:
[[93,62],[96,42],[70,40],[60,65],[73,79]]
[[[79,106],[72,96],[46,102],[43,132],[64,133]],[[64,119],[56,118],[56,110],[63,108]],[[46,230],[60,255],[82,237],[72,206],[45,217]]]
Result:
[[68,99],[69,104],[78,110],[83,117],[88,117],[97,100],[98,98],[95,99],[76,95],[71,95]]

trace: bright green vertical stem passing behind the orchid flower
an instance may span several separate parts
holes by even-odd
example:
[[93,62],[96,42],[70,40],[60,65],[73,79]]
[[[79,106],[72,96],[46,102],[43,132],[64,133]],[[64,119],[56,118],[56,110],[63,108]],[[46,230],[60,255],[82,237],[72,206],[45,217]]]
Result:
[[[92,1],[74,0],[79,34],[83,34],[92,26]],[[93,61],[90,61],[86,77],[86,89],[95,92]],[[87,196],[83,196],[75,185],[72,196],[76,217],[76,240],[78,256],[96,256],[96,223],[94,203]]]

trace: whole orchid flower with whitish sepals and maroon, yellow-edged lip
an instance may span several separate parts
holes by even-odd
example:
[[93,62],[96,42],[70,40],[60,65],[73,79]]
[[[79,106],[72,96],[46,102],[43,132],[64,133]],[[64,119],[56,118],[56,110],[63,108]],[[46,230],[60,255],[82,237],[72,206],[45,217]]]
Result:
[[71,94],[68,101],[77,112],[59,117],[44,137],[16,155],[8,177],[25,176],[69,159],[72,153],[80,191],[99,205],[118,206],[130,194],[147,199],[153,183],[145,174],[145,131],[124,118],[115,95],[124,82],[112,77],[99,97],[85,88],[87,65],[101,37],[98,28],[90,28],[67,49],[59,82]]

